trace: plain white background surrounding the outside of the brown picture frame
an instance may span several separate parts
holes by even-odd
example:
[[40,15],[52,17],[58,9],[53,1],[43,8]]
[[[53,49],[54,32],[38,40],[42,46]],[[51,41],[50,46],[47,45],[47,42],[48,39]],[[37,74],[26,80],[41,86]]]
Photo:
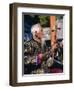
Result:
[[[53,5],[72,5],[74,11],[74,0],[0,0],[0,90],[73,90],[72,84],[59,85],[42,85],[42,86],[26,86],[11,87],[9,86],[9,3],[40,3]],[[74,12],[73,12],[74,15]],[[74,21],[74,18],[73,18]],[[73,26],[74,29],[74,26]],[[74,37],[73,37],[74,38]],[[74,66],[73,66],[74,68]],[[73,74],[74,75],[74,74]]]

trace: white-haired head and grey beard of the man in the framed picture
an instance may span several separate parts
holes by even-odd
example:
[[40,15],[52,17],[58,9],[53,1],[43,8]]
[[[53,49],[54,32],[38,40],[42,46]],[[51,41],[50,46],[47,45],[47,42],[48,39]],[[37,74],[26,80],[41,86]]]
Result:
[[44,39],[44,32],[40,25],[40,23],[37,23],[32,26],[31,32],[33,34],[33,39],[40,43],[42,50],[44,49],[45,39]]

